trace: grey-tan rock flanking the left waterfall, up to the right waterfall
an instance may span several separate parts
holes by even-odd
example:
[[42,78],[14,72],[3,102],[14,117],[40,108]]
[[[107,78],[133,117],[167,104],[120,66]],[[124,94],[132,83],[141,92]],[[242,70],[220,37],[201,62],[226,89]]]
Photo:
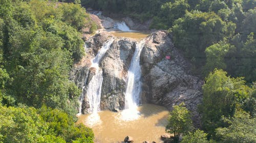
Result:
[[[86,64],[81,64],[72,69],[71,80],[82,89],[83,102],[82,113],[89,112],[89,99],[87,96],[87,85],[95,75],[95,69],[90,68],[91,62],[103,43],[112,38],[113,35],[103,32],[98,33],[86,41],[87,55],[84,59]],[[135,51],[136,41],[128,38],[116,38],[108,51],[101,59],[99,67],[102,69],[103,82],[101,88],[101,110],[118,111],[124,108],[124,92],[127,70]],[[89,63],[89,64],[88,64]]]

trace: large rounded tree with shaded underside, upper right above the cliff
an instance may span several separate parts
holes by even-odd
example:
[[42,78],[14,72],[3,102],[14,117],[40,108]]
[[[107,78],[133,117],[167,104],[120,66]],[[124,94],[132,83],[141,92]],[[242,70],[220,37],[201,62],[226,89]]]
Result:
[[194,11],[174,22],[170,29],[177,48],[185,52],[194,64],[203,65],[205,48],[234,33],[234,25],[224,22],[217,14]]

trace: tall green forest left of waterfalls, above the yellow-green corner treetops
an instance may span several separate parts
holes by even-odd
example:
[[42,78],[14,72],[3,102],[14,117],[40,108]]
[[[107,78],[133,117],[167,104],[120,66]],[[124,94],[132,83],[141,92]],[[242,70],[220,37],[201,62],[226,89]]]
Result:
[[2,103],[46,104],[75,115],[80,91],[69,72],[84,55],[79,31],[91,27],[89,14],[80,5],[55,1],[1,1],[1,7]]

